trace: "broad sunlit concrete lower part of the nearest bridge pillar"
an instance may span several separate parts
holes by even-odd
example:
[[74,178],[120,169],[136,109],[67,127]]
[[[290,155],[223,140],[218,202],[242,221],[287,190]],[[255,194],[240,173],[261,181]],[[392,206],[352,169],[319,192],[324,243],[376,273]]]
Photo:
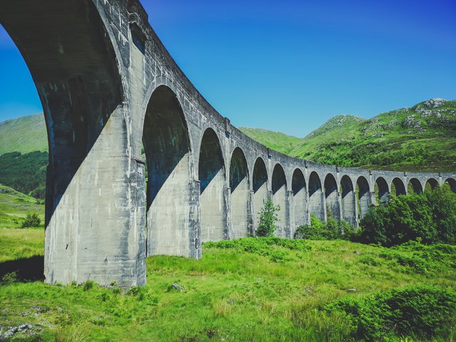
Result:
[[145,285],[144,165],[125,152],[125,118],[125,108],[114,110],[74,173],[65,172],[73,162],[61,159],[65,149],[51,149],[44,253],[49,284]]

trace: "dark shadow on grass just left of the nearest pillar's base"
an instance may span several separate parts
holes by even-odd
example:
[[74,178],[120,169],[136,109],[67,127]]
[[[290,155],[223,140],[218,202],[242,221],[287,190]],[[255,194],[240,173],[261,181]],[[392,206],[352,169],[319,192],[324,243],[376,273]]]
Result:
[[43,256],[4,261],[0,263],[0,279],[2,279],[5,274],[17,272],[18,281],[44,280],[43,270]]

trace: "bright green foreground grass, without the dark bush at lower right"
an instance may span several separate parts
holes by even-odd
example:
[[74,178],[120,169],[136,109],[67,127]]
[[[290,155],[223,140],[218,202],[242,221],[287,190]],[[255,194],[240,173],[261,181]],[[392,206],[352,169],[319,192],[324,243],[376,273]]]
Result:
[[[24,230],[0,229],[0,242],[26,246],[27,256],[42,255],[43,232],[24,235]],[[45,341],[56,333],[57,341],[348,341],[343,317],[315,309],[341,297],[405,285],[456,286],[454,258],[433,261],[423,272],[382,257],[391,249],[351,242],[267,249],[271,254],[204,247],[200,260],[149,257],[147,286],[137,296],[41,281],[1,285],[0,326],[39,324]],[[395,253],[410,259],[418,252]],[[4,249],[0,255],[1,260],[19,257]],[[175,282],[185,291],[170,290]]]

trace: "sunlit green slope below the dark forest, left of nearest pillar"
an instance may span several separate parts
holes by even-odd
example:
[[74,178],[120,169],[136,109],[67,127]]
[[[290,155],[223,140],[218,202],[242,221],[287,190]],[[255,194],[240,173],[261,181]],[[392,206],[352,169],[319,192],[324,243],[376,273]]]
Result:
[[[0,184],[0,227],[21,227],[27,214],[36,213],[44,222],[44,205],[40,201]],[[0,244],[3,248],[4,244]]]

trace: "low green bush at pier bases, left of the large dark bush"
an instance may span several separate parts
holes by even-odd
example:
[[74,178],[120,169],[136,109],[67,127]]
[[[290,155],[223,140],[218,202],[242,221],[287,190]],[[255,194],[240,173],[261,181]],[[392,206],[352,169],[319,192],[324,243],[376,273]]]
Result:
[[321,222],[314,214],[311,214],[311,224],[296,229],[295,239],[329,240],[350,239],[355,234],[353,226],[343,220],[328,217],[326,222]]

